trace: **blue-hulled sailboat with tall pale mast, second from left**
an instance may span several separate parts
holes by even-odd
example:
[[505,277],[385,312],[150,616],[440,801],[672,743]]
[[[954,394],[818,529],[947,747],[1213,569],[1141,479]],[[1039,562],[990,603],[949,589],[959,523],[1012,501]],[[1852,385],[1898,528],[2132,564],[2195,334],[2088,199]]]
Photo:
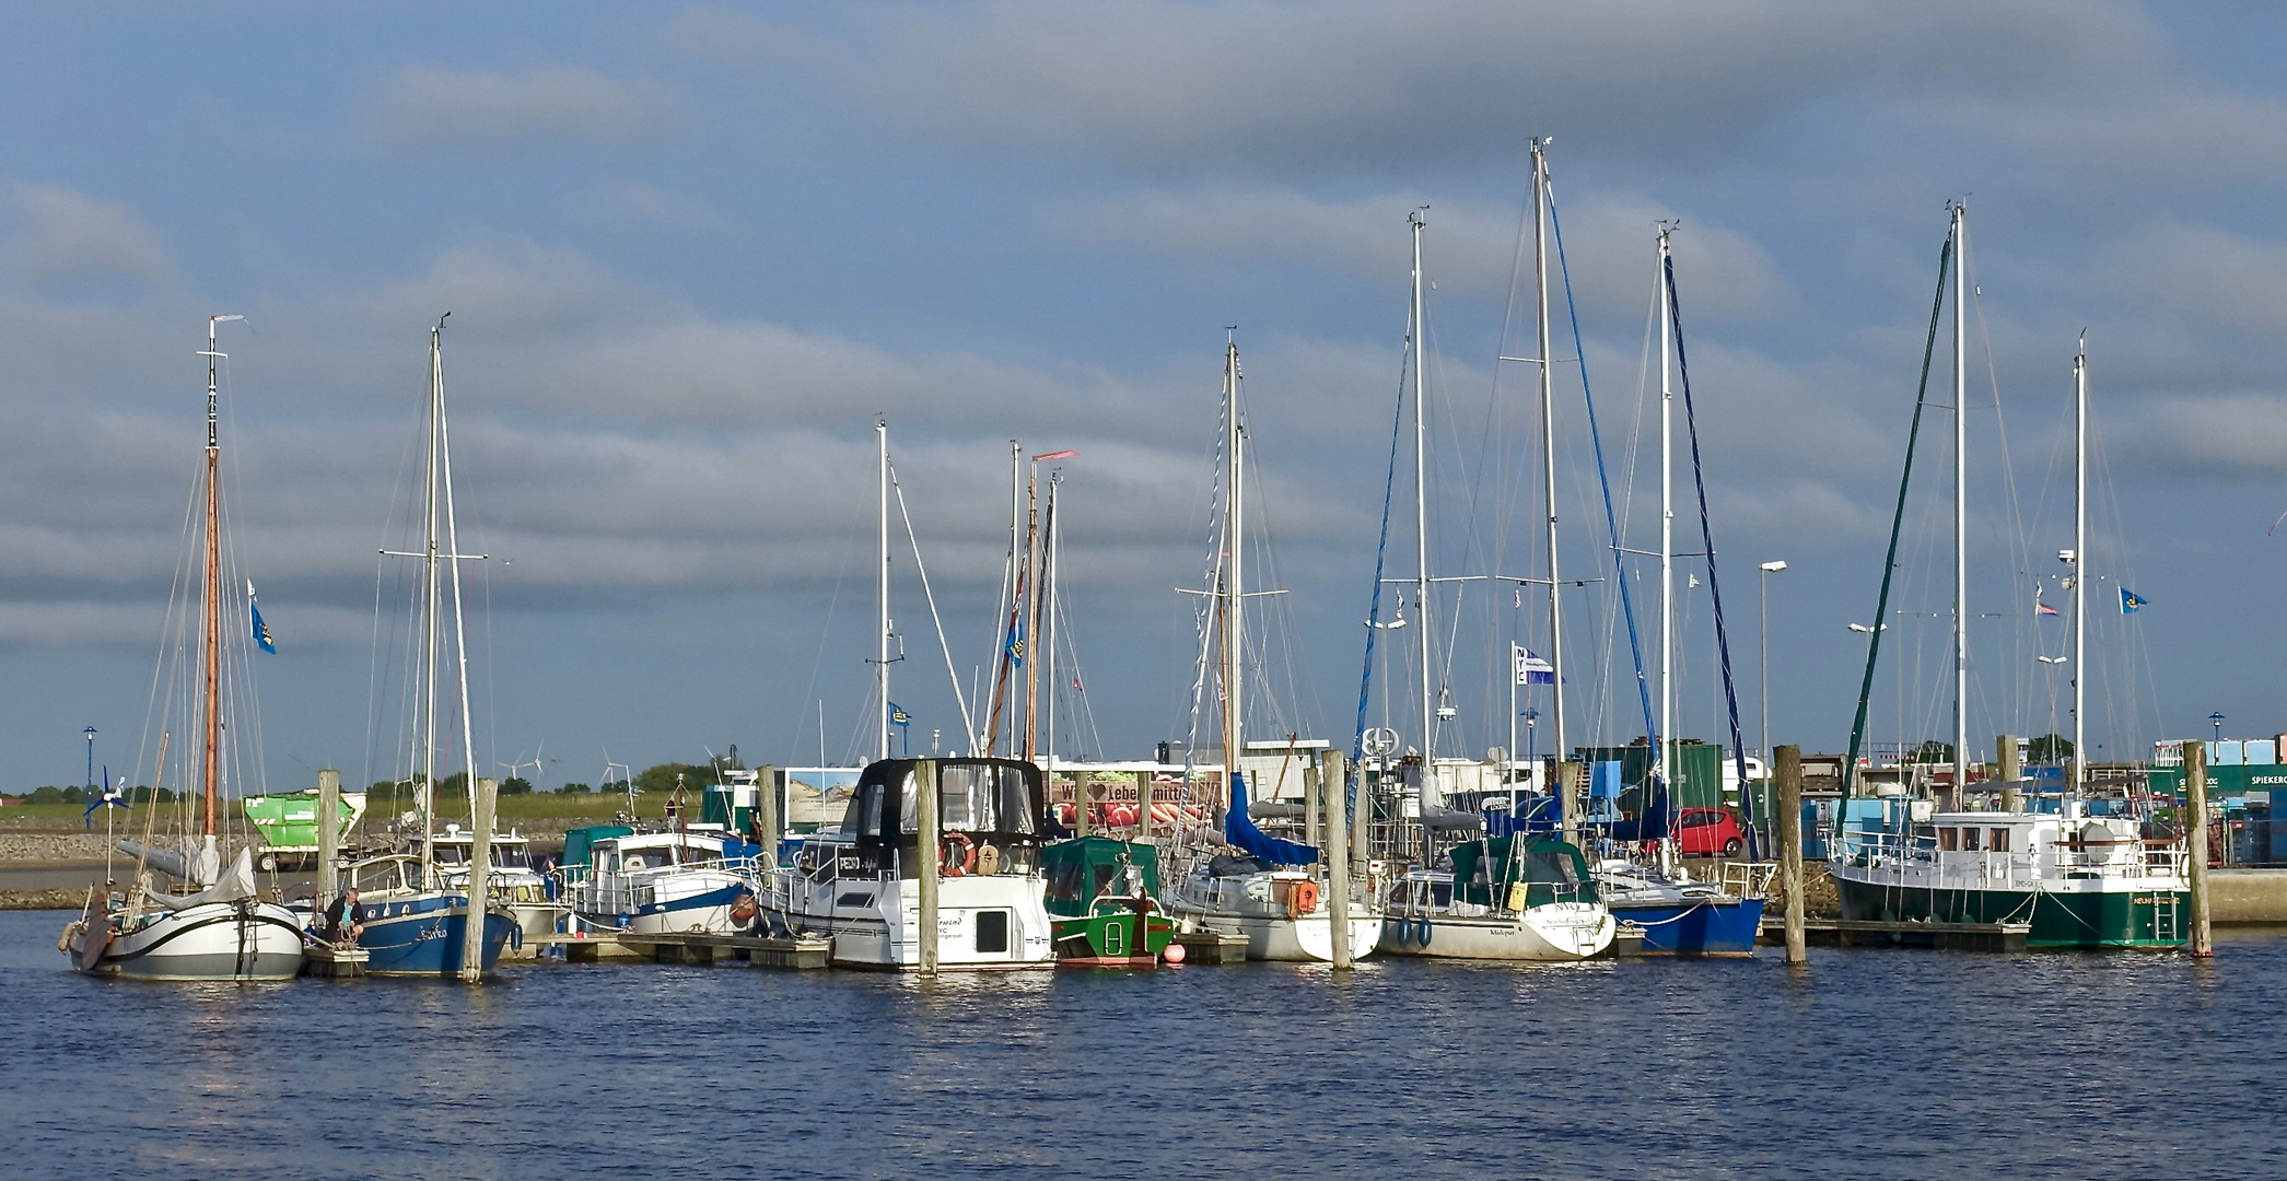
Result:
[[[462,975],[469,941],[471,911],[483,916],[476,968],[489,973],[501,959],[501,948],[519,936],[517,920],[494,911],[487,902],[469,904],[471,893],[489,897],[489,854],[471,856],[457,865],[460,881],[448,881],[446,865],[437,861],[437,771],[448,755],[453,735],[439,737],[439,675],[444,661],[455,668],[455,700],[460,703],[460,755],[469,783],[469,813],[476,808],[476,726],[469,712],[469,643],[462,616],[460,563],[469,561],[460,552],[460,529],[453,513],[453,449],[446,428],[444,403],[444,320],[430,330],[430,389],[428,389],[428,437],[423,446],[423,547],[419,552],[389,552],[382,556],[416,558],[421,574],[416,584],[416,643],[412,673],[419,677],[414,710],[407,719],[414,742],[414,808],[421,819],[421,835],[407,851],[357,861],[345,867],[345,881],[359,893],[366,909],[366,929],[357,945],[366,950],[368,975],[416,975],[453,977]],[[451,593],[451,602],[446,595]],[[446,616],[451,611],[451,616]],[[446,627],[451,620],[451,627]],[[487,833],[489,835],[489,833]],[[320,899],[322,904],[322,899]]]

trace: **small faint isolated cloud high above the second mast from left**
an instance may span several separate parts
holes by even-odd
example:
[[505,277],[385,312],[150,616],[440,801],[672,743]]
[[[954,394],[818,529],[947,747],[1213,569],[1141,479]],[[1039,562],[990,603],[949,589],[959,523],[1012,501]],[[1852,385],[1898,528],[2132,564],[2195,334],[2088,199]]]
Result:
[[391,149],[624,146],[672,135],[682,96],[588,66],[476,71],[412,64],[366,94],[359,130]]

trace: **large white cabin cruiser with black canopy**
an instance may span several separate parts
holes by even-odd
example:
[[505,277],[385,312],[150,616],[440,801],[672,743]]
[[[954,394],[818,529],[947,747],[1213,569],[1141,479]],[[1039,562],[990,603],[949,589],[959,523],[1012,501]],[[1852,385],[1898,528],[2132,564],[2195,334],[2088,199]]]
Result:
[[[938,780],[922,783],[935,767]],[[935,849],[919,847],[915,799],[938,792]],[[844,968],[917,970],[919,870],[938,863],[940,968],[1052,968],[1043,904],[1041,769],[1004,758],[883,760],[858,778],[842,826],[812,833],[762,874],[762,922],[832,938]]]

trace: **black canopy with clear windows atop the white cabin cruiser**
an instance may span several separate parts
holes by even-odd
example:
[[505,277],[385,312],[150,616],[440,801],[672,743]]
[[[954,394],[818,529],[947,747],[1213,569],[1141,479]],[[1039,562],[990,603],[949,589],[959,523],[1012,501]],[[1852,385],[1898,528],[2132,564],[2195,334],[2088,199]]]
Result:
[[[842,813],[842,835],[858,847],[913,847],[919,822],[913,813],[915,769],[938,767],[938,826],[974,842],[1031,845],[1041,840],[1047,790],[1041,769],[1013,758],[892,758],[864,769],[851,806]],[[892,790],[897,785],[897,790]]]

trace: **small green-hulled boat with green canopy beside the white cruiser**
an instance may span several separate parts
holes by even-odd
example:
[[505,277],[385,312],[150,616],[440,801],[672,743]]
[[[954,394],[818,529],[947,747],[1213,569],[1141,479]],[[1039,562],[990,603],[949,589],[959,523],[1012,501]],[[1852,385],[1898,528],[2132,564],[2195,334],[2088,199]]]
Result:
[[1160,913],[1160,849],[1086,835],[1041,851],[1059,968],[1153,968],[1176,922]]

